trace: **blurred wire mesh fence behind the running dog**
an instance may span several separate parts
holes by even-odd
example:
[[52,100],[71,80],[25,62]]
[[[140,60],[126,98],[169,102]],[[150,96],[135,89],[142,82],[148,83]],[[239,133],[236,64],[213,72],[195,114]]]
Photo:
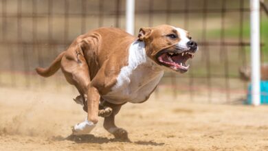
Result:
[[[27,89],[63,90],[57,73],[45,80],[34,68],[46,67],[76,36],[97,27],[125,25],[124,0],[0,0],[0,83]],[[235,102],[247,93],[238,68],[249,62],[248,0],[136,0],[135,33],[140,27],[170,24],[188,30],[199,43],[188,73],[165,73],[156,95],[192,102]],[[262,3],[262,18],[265,4]],[[266,9],[267,13],[267,9]],[[267,35],[262,35],[262,38]],[[265,38],[263,38],[265,39]],[[262,46],[267,45],[263,41]],[[265,47],[266,49],[266,47]],[[263,60],[267,60],[263,49]]]

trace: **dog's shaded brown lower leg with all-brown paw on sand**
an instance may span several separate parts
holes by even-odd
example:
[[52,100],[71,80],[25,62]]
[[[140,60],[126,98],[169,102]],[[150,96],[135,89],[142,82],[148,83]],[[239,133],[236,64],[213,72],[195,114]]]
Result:
[[111,104],[109,102],[104,102],[104,105],[113,109],[113,112],[109,117],[104,117],[104,128],[110,132],[115,139],[129,140],[128,132],[123,128],[118,128],[118,126],[115,126],[115,115],[118,114],[123,104]]

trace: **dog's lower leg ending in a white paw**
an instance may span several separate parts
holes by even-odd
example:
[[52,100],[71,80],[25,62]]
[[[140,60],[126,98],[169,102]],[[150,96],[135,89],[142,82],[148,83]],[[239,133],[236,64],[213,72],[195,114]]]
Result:
[[100,101],[100,93],[98,89],[89,85],[87,93],[87,119],[76,124],[73,129],[74,135],[83,135],[91,132],[98,123],[98,106]]

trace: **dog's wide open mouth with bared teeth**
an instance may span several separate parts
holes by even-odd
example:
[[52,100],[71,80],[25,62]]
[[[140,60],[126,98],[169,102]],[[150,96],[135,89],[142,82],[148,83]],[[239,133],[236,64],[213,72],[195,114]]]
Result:
[[186,62],[189,58],[193,58],[194,53],[190,51],[161,51],[157,55],[157,60],[161,65],[169,67],[175,71],[181,71],[184,73],[188,71],[190,65],[187,65]]

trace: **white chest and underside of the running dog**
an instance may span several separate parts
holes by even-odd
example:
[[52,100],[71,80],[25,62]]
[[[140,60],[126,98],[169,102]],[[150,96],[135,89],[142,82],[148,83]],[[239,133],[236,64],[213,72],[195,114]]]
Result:
[[164,73],[155,66],[146,57],[144,43],[136,41],[129,49],[129,65],[122,67],[115,86],[102,97],[113,104],[144,102]]

